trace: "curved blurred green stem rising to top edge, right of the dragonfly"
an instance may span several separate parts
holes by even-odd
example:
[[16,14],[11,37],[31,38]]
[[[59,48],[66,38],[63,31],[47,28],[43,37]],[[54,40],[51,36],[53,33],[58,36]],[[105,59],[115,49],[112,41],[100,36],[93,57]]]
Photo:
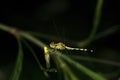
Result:
[[86,40],[80,41],[78,43],[78,46],[81,46],[81,47],[87,46],[94,40],[94,37],[96,36],[96,32],[97,32],[99,24],[100,24],[102,6],[103,6],[103,0],[98,0],[96,8],[95,8],[92,31],[91,31],[89,37]]

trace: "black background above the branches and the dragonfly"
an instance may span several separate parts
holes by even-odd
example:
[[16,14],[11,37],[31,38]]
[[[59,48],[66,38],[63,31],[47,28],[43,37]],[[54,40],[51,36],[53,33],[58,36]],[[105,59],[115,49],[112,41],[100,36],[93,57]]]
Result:
[[[53,24],[55,21],[60,33],[63,33],[64,28],[67,37],[83,39],[92,29],[96,2],[96,0],[5,1],[1,2],[0,21],[21,29],[53,34],[56,33]],[[98,31],[119,25],[119,18],[119,2],[105,0]]]

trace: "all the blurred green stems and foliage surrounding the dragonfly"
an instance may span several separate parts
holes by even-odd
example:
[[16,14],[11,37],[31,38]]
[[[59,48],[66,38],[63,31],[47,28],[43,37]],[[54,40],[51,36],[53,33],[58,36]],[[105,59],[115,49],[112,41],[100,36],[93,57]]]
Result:
[[[103,5],[103,0],[98,0],[97,6],[95,9],[95,14],[94,14],[95,16],[93,20],[93,29],[91,30],[89,37],[86,38],[86,40],[83,40],[80,42],[71,42],[71,43],[76,43],[77,46],[85,47],[85,46],[90,45],[91,42],[93,42],[94,40],[107,36],[118,30],[118,26],[115,26],[115,27],[111,27],[110,29],[103,31],[102,33],[96,34],[98,27],[99,27],[99,23],[100,23],[102,5]],[[23,62],[24,62],[23,58],[25,58],[24,50],[22,48],[24,46],[22,45],[22,43],[26,46],[26,48],[29,49],[30,53],[32,53],[32,56],[34,57],[37,63],[37,66],[39,67],[39,71],[41,72],[42,75],[44,75],[44,76],[40,76],[40,77],[43,77],[41,80],[45,80],[45,79],[51,80],[51,73],[54,73],[54,75],[57,75],[57,77],[56,76],[54,77],[55,80],[62,80],[62,79],[81,80],[83,78],[83,77],[80,77],[81,75],[79,75],[81,73],[87,76],[87,79],[89,80],[90,79],[107,80],[105,75],[103,76],[103,74],[99,74],[98,72],[95,72],[83,66],[82,63],[79,63],[78,61],[73,60],[72,58],[64,55],[60,51],[57,51],[57,50],[53,51],[53,49],[51,49],[47,44],[45,44],[45,42],[43,42],[42,40],[36,37],[36,34],[37,34],[37,36],[39,36],[40,38],[44,37],[49,41],[50,39],[49,35],[42,35],[41,33],[37,33],[37,32],[23,31],[23,30],[9,27],[3,24],[0,24],[0,30],[6,31],[9,34],[14,35],[14,37],[18,41],[17,59],[16,59],[15,67],[13,69],[13,72],[11,72],[12,74],[9,80],[20,80],[22,70],[23,70]],[[38,53],[35,52],[35,50],[32,48],[29,42],[32,44],[35,44],[39,49],[44,49],[45,47],[48,48],[49,53],[45,55],[47,57],[48,56],[50,57],[51,63],[49,62],[49,60],[47,60],[47,58],[45,58],[45,60],[48,62],[48,64],[46,65],[47,67],[44,67],[42,65],[42,63],[45,64],[46,62],[45,61],[42,62],[39,60],[37,56]],[[43,55],[44,55],[44,52],[43,52]],[[83,59],[86,59],[87,61],[91,60],[91,61],[96,61],[99,63],[106,63],[110,65],[120,66],[119,63],[115,63],[115,62],[107,62],[107,61],[97,60],[93,58],[92,59],[83,58]],[[50,67],[51,64],[54,64],[54,68]],[[61,77],[64,77],[64,78],[61,78]],[[36,79],[39,79],[39,78],[36,78]]]

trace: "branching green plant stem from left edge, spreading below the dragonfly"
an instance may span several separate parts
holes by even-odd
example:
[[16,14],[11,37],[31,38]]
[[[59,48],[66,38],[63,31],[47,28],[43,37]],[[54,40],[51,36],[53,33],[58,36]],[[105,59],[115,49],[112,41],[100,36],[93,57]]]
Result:
[[[19,80],[19,76],[21,74],[21,70],[22,70],[22,63],[23,63],[23,50],[22,50],[22,46],[21,46],[21,41],[20,39],[27,39],[29,41],[31,41],[32,43],[36,44],[38,47],[40,48],[44,48],[47,47],[49,50],[51,50],[49,48],[48,45],[46,45],[45,43],[43,43],[42,41],[38,40],[36,37],[32,36],[31,34],[27,33],[27,31],[20,31],[17,30],[15,28],[10,28],[7,27],[5,25],[0,25],[0,29],[7,31],[11,34],[13,34],[17,40],[18,40],[18,44],[19,44],[19,50],[18,50],[18,57],[16,60],[16,66],[14,68],[13,74],[10,77],[10,80]],[[28,46],[30,48],[30,46]],[[43,70],[43,74],[47,77],[49,76],[49,74],[47,72],[50,71],[54,71],[53,69],[49,70],[46,69],[44,67],[42,67],[42,65],[40,64],[40,62],[37,59],[37,56],[35,55],[35,53],[33,52],[32,48],[30,48],[34,58],[36,59],[39,67],[41,70]],[[54,59],[56,65],[58,65],[57,67],[59,67],[59,69],[61,69],[64,74],[65,74],[65,79],[71,79],[71,80],[80,80],[70,69],[70,67],[63,61],[63,59],[71,64],[74,64],[74,66],[80,70],[81,72],[85,73],[86,75],[90,76],[93,80],[106,80],[105,78],[103,78],[102,76],[100,76],[99,74],[87,69],[86,67],[84,67],[83,65],[81,65],[80,63],[75,62],[74,60],[70,59],[69,57],[63,55],[62,53],[55,51],[55,52],[51,52],[50,53],[51,57]],[[58,71],[59,73],[59,71]]]

